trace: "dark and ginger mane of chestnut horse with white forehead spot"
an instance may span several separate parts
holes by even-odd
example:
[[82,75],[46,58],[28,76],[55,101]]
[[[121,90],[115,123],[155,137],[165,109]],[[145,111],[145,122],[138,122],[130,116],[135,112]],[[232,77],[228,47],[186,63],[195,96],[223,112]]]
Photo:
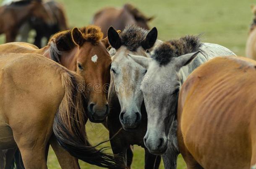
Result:
[[[101,29],[94,25],[78,28],[83,33],[85,41],[92,44],[97,44],[99,40],[103,38]],[[60,63],[60,55],[64,52],[70,51],[76,47],[76,44],[72,40],[71,30],[64,30],[56,33],[49,40],[51,59],[57,63]]]

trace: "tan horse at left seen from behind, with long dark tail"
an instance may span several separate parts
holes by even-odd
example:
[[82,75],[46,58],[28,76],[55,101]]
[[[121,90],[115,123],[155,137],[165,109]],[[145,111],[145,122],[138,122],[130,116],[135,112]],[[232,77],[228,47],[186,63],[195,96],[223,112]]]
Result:
[[1,54],[0,67],[0,149],[17,145],[25,168],[47,169],[45,148],[54,133],[71,155],[102,167],[120,167],[86,138],[87,93],[80,75],[35,53]]

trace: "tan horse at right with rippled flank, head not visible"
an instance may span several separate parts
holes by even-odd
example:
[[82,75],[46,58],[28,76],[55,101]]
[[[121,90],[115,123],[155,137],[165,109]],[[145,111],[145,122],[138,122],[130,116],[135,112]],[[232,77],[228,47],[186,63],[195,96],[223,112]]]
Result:
[[218,57],[197,68],[178,101],[178,144],[188,169],[255,169],[256,61]]

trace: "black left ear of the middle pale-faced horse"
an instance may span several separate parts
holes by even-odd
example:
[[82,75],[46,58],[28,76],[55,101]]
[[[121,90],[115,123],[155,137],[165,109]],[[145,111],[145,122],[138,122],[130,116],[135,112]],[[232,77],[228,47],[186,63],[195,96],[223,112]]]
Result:
[[121,38],[120,38],[118,32],[112,26],[110,26],[110,28],[108,28],[108,30],[107,30],[107,37],[108,37],[108,41],[109,41],[110,45],[113,48],[115,48],[115,49],[120,48]]

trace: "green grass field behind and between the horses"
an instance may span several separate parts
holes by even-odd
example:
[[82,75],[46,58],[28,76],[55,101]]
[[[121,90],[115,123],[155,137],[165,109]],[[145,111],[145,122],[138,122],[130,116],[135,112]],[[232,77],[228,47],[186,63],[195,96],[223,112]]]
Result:
[[[1,2],[2,0],[0,0]],[[129,2],[146,15],[156,18],[150,26],[156,26],[159,39],[169,40],[187,34],[203,33],[202,41],[218,43],[237,55],[245,55],[245,44],[253,15],[250,6],[253,0],[60,0],[65,5],[70,26],[84,26],[91,22],[93,14],[105,7],[120,7]],[[0,35],[0,43],[4,36]],[[108,139],[107,130],[101,124],[87,124],[92,143]],[[109,145],[109,144],[105,144]],[[81,161],[80,161],[81,162]],[[82,169],[98,169],[81,162]],[[49,169],[59,169],[57,159],[51,150],[48,157]],[[133,169],[144,168],[144,150],[134,149]],[[161,164],[161,169],[163,165]],[[179,156],[178,169],[185,169]]]

